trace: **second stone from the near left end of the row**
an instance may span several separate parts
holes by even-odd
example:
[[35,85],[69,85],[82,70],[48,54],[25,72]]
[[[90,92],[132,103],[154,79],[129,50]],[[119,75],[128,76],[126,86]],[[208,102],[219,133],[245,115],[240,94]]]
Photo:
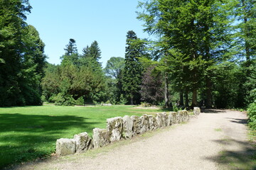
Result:
[[92,148],[92,139],[87,132],[82,132],[74,136],[76,152],[85,152]]

